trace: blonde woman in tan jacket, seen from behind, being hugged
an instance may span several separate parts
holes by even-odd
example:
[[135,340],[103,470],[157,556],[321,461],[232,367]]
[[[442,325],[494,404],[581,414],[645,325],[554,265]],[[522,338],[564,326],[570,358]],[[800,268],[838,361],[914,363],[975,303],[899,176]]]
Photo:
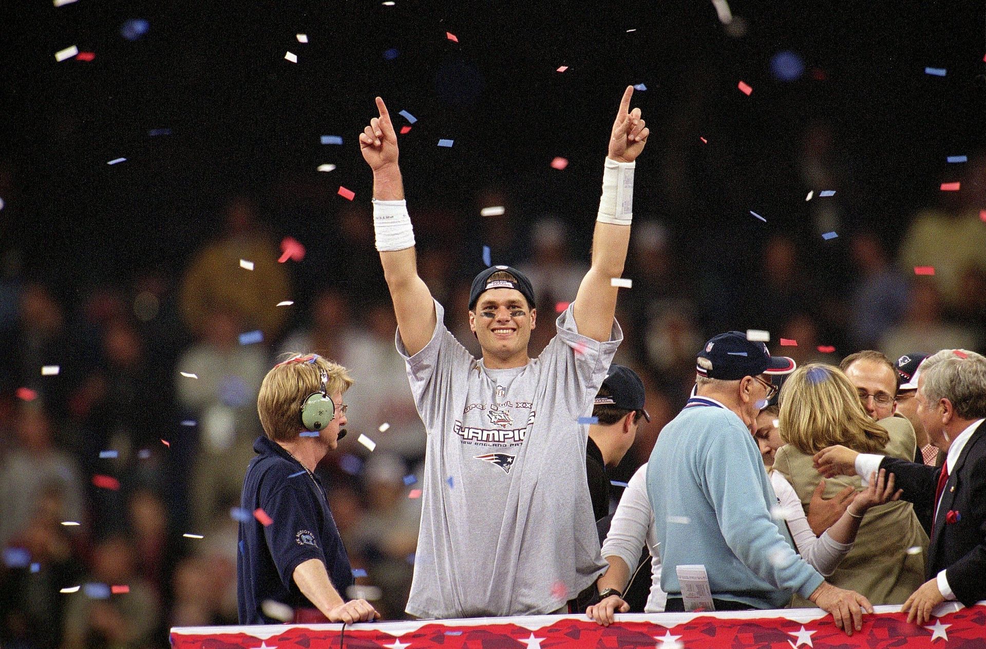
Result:
[[[914,458],[910,423],[903,417],[870,418],[837,367],[810,363],[798,368],[784,383],[780,404],[781,437],[787,444],[777,451],[774,469],[791,482],[806,510],[821,479],[811,457],[821,449],[841,444],[859,453]],[[841,476],[827,480],[822,495],[830,498],[847,485],[863,490],[859,477]],[[928,535],[908,502],[887,502],[863,516],[855,544],[829,581],[875,605],[903,604],[924,583]]]

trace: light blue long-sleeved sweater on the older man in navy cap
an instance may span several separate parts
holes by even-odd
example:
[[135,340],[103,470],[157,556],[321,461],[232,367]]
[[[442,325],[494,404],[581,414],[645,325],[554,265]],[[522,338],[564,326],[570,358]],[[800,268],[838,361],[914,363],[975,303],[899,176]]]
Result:
[[680,597],[675,566],[703,564],[712,597],[780,609],[819,575],[770,515],[777,496],[753,436],[732,410],[684,408],[658,436],[647,495],[661,542],[661,587]]

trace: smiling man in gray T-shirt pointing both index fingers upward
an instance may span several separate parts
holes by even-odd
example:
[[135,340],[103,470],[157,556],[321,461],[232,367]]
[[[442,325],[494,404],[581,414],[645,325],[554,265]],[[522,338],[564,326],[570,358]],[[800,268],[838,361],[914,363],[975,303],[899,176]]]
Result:
[[482,359],[449,332],[417,273],[397,139],[379,97],[380,116],[360,134],[397,350],[428,433],[407,613],[556,613],[606,566],[585,488],[573,485],[586,483],[588,426],[579,420],[622,339],[611,280],[623,272],[634,161],[649,134],[640,108],[630,110],[632,94],[628,87],[609,139],[592,266],[536,359],[533,291],[516,268],[487,268],[473,281],[469,327]]

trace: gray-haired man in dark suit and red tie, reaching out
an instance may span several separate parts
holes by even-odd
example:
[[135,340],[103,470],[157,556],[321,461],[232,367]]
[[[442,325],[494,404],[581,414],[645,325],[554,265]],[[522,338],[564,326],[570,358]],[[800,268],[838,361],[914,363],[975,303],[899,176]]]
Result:
[[915,511],[931,512],[928,581],[901,609],[908,621],[924,624],[947,600],[986,600],[986,358],[964,349],[931,356],[921,365],[917,401],[929,438],[947,454],[942,469],[841,446],[819,451],[814,465],[826,477],[887,469]]

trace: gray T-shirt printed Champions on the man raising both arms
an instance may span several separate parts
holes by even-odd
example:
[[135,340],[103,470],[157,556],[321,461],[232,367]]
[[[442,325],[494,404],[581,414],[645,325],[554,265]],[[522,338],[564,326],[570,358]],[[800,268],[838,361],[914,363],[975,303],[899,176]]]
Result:
[[428,431],[421,530],[407,613],[553,613],[606,562],[586,478],[593,399],[623,333],[576,332],[573,307],[526,366],[487,369],[438,321],[414,356],[397,351]]

